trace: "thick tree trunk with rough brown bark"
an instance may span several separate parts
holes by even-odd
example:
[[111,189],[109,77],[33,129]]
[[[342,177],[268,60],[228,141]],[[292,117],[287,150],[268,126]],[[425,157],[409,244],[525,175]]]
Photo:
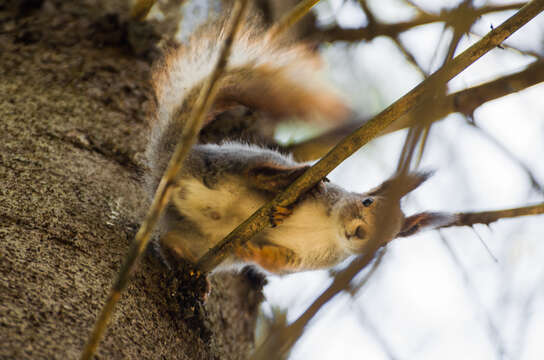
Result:
[[[0,5],[2,359],[78,357],[147,203],[154,38],[84,3]],[[204,308],[184,307],[169,276],[141,262],[99,358],[245,358],[260,292],[221,275]]]

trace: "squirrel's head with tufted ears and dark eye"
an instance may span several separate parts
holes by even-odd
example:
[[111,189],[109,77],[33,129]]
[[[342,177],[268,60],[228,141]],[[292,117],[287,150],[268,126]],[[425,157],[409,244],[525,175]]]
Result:
[[333,213],[340,225],[339,235],[345,238],[349,251],[361,253],[377,235],[390,241],[451,222],[451,215],[419,213],[406,217],[401,209],[401,199],[431,175],[427,172],[394,176],[366,193],[339,197]]

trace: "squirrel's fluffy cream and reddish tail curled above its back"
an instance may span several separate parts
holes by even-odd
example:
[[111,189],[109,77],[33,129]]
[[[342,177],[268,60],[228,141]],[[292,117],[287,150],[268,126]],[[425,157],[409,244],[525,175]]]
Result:
[[[212,72],[226,34],[222,24],[202,28],[179,49],[169,51],[154,71],[157,108],[153,121],[166,127],[174,117],[183,121],[206,77]],[[286,45],[256,30],[245,29],[233,44],[226,74],[207,122],[213,115],[243,105],[272,119],[343,120],[348,109],[320,74],[319,58],[306,46]]]

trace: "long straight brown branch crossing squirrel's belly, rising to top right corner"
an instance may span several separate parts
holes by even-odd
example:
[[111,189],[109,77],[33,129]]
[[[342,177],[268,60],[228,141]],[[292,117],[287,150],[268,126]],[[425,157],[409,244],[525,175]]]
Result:
[[378,136],[396,119],[412,110],[420,101],[428,96],[429,89],[439,88],[485,53],[500,45],[514,31],[521,28],[544,9],[544,0],[533,0],[516,14],[492,30],[480,41],[458,55],[446,66],[429,76],[418,86],[387,107],[372,120],[365,123],[356,132],[343,139],[314,166],[293,182],[285,191],[278,194],[270,202],[263,205],[247,220],[234,229],[225,239],[220,241],[198,262],[198,266],[207,272],[220,264],[239,244],[249,240],[257,232],[269,226],[269,214],[277,207],[288,207],[304,192],[310,190],[329,172],[338,166],[356,150]]

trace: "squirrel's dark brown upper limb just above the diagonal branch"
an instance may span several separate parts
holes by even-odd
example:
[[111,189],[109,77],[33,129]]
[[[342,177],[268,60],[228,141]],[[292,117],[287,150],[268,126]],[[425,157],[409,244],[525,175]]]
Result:
[[295,181],[309,165],[284,166],[275,163],[261,163],[247,171],[250,184],[259,190],[278,192]]

